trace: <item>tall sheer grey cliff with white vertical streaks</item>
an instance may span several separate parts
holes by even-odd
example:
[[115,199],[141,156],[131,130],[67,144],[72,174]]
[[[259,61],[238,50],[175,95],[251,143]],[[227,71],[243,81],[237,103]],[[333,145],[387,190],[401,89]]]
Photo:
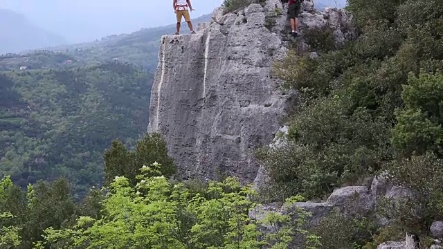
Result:
[[[255,178],[253,149],[269,145],[296,98],[270,75],[289,44],[286,12],[278,0],[226,15],[217,8],[196,35],[161,38],[148,132],[165,137],[180,178]],[[301,22],[301,32],[329,25],[338,42],[345,37],[340,10],[316,12],[306,0]]]

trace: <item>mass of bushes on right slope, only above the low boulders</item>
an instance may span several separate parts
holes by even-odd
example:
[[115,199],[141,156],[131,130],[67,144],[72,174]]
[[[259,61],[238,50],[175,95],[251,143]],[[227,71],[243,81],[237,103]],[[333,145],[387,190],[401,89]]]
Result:
[[[257,153],[275,185],[270,199],[321,198],[392,160],[428,151],[441,157],[442,77],[425,72],[443,69],[442,7],[441,1],[350,0],[355,40],[337,49],[319,44],[324,52],[315,59],[290,50],[274,64],[282,88],[298,90],[300,101],[289,145]],[[422,18],[410,21],[415,14]],[[330,40],[330,33],[314,31],[311,42],[318,35]]]

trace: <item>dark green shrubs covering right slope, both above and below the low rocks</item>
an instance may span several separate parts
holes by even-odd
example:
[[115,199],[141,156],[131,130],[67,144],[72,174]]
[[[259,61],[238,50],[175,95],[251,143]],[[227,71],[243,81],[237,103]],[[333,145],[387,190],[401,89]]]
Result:
[[[311,30],[307,43],[320,57],[290,51],[273,68],[301,98],[288,144],[257,151],[273,183],[263,193],[269,201],[324,199],[336,187],[388,172],[390,183],[415,196],[379,203],[377,212],[395,221],[368,236],[370,228],[357,228],[373,216],[331,214],[320,241],[376,248],[408,232],[425,244],[432,221],[443,218],[443,2],[350,0],[347,9],[354,40],[336,48],[330,30]],[[338,236],[338,226],[350,229]]]

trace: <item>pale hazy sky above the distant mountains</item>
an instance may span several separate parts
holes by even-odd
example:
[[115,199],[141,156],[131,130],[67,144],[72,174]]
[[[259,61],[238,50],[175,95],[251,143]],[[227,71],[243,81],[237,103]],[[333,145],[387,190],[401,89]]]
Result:
[[[199,17],[223,0],[191,0]],[[0,0],[0,8],[26,15],[30,21],[69,42],[131,33],[141,28],[174,24],[172,0]]]

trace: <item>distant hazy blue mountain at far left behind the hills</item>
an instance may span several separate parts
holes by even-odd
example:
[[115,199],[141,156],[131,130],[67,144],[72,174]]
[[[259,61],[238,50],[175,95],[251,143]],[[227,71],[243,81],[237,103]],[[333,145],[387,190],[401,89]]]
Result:
[[24,15],[0,9],[0,53],[17,53],[66,43],[60,35],[34,26]]

